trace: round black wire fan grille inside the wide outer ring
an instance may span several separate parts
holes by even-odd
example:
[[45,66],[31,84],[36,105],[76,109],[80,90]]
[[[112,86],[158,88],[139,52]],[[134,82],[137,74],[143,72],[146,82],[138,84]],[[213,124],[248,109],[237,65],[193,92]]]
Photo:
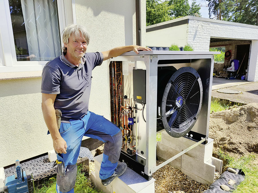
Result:
[[200,105],[200,85],[198,79],[192,73],[180,74],[167,94],[165,116],[170,127],[177,132],[187,130],[196,120],[196,114]]

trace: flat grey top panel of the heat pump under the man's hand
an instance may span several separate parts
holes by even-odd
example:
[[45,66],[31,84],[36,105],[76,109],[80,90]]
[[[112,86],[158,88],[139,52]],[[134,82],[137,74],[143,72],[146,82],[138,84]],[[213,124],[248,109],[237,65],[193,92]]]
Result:
[[129,51],[121,54],[121,56],[128,55],[211,55],[220,54],[220,51],[162,51],[162,50],[151,50],[151,51],[139,51],[136,54],[134,51]]

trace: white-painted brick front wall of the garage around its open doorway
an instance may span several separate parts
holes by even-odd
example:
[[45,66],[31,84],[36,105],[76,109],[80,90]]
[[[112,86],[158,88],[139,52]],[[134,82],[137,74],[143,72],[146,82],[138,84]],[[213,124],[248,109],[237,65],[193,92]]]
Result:
[[[206,20],[206,21],[202,21]],[[248,69],[248,81],[258,81],[258,29],[257,26],[221,21],[209,22],[209,19],[189,19],[187,26],[187,43],[194,51],[209,51],[210,38],[230,38],[253,40]]]

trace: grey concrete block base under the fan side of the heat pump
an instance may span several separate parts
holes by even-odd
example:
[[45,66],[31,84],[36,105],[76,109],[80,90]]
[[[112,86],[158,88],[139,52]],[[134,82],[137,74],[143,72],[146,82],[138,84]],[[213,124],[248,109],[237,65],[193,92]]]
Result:
[[[161,142],[157,142],[157,157],[166,161],[196,142],[186,138],[173,138],[162,132]],[[181,170],[193,180],[212,184],[214,182],[215,169],[222,171],[222,160],[212,157],[213,139],[208,139],[206,145],[200,144],[187,153],[169,163],[169,165]]]

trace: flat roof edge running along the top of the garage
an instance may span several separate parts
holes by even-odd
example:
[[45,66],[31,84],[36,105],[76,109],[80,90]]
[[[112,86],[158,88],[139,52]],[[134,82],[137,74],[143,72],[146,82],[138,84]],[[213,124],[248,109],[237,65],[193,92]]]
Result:
[[[242,26],[242,27],[251,27],[251,28],[256,28],[258,29],[258,26],[256,25],[249,25],[249,24],[244,24],[244,23],[236,23],[236,22],[230,22],[230,21],[222,21],[222,20],[217,20],[217,19],[209,19],[209,18],[204,18],[204,17],[195,17],[195,16],[185,16],[185,17],[180,17],[177,19],[171,19],[169,21],[164,21],[161,23],[157,23],[154,25],[149,25],[146,26],[146,32],[148,31],[154,31],[158,29],[163,29],[167,27],[173,27],[177,25],[183,25],[189,23],[189,19],[191,20],[198,20],[198,21],[207,21],[207,22],[212,22],[212,23],[220,23],[220,24],[225,24],[225,25],[235,25],[235,26]],[[152,29],[154,28],[154,30]]]

